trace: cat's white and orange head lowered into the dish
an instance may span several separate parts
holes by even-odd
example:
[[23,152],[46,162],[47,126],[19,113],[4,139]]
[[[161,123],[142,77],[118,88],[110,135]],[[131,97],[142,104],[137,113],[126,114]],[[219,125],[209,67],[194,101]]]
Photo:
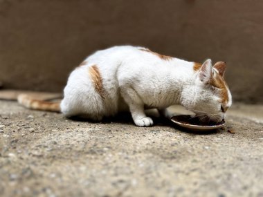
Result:
[[190,88],[190,100],[183,104],[193,111],[199,120],[220,122],[232,104],[232,96],[224,80],[225,62],[212,66],[210,59],[194,64],[194,83]]

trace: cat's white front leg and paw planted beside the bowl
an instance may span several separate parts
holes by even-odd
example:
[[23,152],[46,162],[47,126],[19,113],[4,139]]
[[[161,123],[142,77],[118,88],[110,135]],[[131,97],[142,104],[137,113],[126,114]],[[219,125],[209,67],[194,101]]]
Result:
[[144,103],[134,88],[120,87],[120,93],[129,106],[129,111],[136,126],[152,126],[154,124],[152,118],[145,115]]

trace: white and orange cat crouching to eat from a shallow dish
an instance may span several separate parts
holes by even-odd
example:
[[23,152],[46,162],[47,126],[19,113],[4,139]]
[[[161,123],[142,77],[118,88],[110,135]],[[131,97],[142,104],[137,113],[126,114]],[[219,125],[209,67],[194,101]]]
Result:
[[212,66],[207,59],[198,64],[139,46],[114,46],[98,50],[75,68],[61,103],[32,100],[28,95],[19,95],[18,101],[30,109],[96,121],[130,111],[136,126],[153,125],[145,109],[158,109],[170,118],[167,107],[181,104],[200,120],[220,122],[232,104],[225,69],[225,62]]

